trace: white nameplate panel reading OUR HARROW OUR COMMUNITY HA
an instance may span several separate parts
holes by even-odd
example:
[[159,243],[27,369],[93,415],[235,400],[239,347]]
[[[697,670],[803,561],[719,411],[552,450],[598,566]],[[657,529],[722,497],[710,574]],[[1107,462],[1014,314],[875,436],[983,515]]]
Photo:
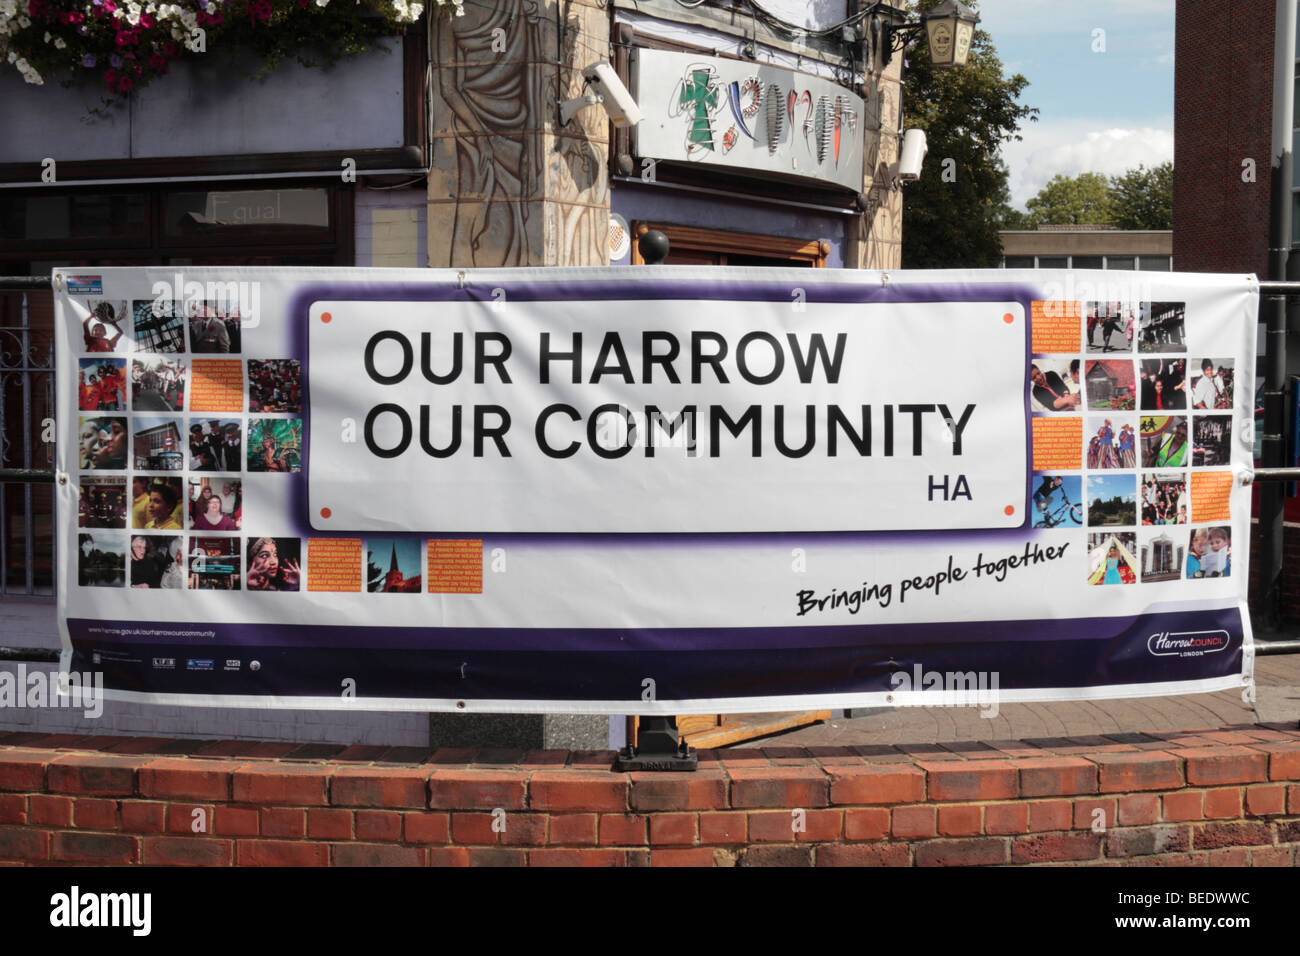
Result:
[[[564,533],[1023,522],[1018,303],[706,300],[653,317],[642,306],[313,303],[312,524]],[[920,375],[906,360],[918,346]]]

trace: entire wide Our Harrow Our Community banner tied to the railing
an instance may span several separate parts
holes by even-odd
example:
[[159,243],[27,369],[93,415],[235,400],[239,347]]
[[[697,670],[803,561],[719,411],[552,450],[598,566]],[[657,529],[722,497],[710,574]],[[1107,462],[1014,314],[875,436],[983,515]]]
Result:
[[684,714],[1251,680],[1251,277],[55,289],[62,663],[109,697]]

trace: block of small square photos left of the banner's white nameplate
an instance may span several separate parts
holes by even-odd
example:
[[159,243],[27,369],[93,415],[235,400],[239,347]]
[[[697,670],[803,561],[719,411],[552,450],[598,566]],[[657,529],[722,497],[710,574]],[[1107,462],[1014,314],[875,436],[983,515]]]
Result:
[[[238,307],[162,297],[84,306],[78,583],[239,591],[247,567],[250,589],[296,591],[295,564],[268,555],[277,540],[240,533],[257,531],[243,523],[244,472],[298,470],[302,421],[283,416],[300,411],[298,363],[246,362]],[[296,559],[296,538],[278,545]]]

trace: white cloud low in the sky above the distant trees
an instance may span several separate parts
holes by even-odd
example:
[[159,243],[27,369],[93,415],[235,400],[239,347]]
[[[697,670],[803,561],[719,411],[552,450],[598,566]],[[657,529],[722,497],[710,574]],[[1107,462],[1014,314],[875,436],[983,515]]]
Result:
[[1153,165],[1174,159],[1174,122],[1154,117],[1135,126],[1108,126],[1098,120],[1066,120],[1024,124],[1024,139],[1002,147],[1010,170],[1011,204],[1024,202],[1060,174],[1101,173],[1115,176],[1143,163]]

